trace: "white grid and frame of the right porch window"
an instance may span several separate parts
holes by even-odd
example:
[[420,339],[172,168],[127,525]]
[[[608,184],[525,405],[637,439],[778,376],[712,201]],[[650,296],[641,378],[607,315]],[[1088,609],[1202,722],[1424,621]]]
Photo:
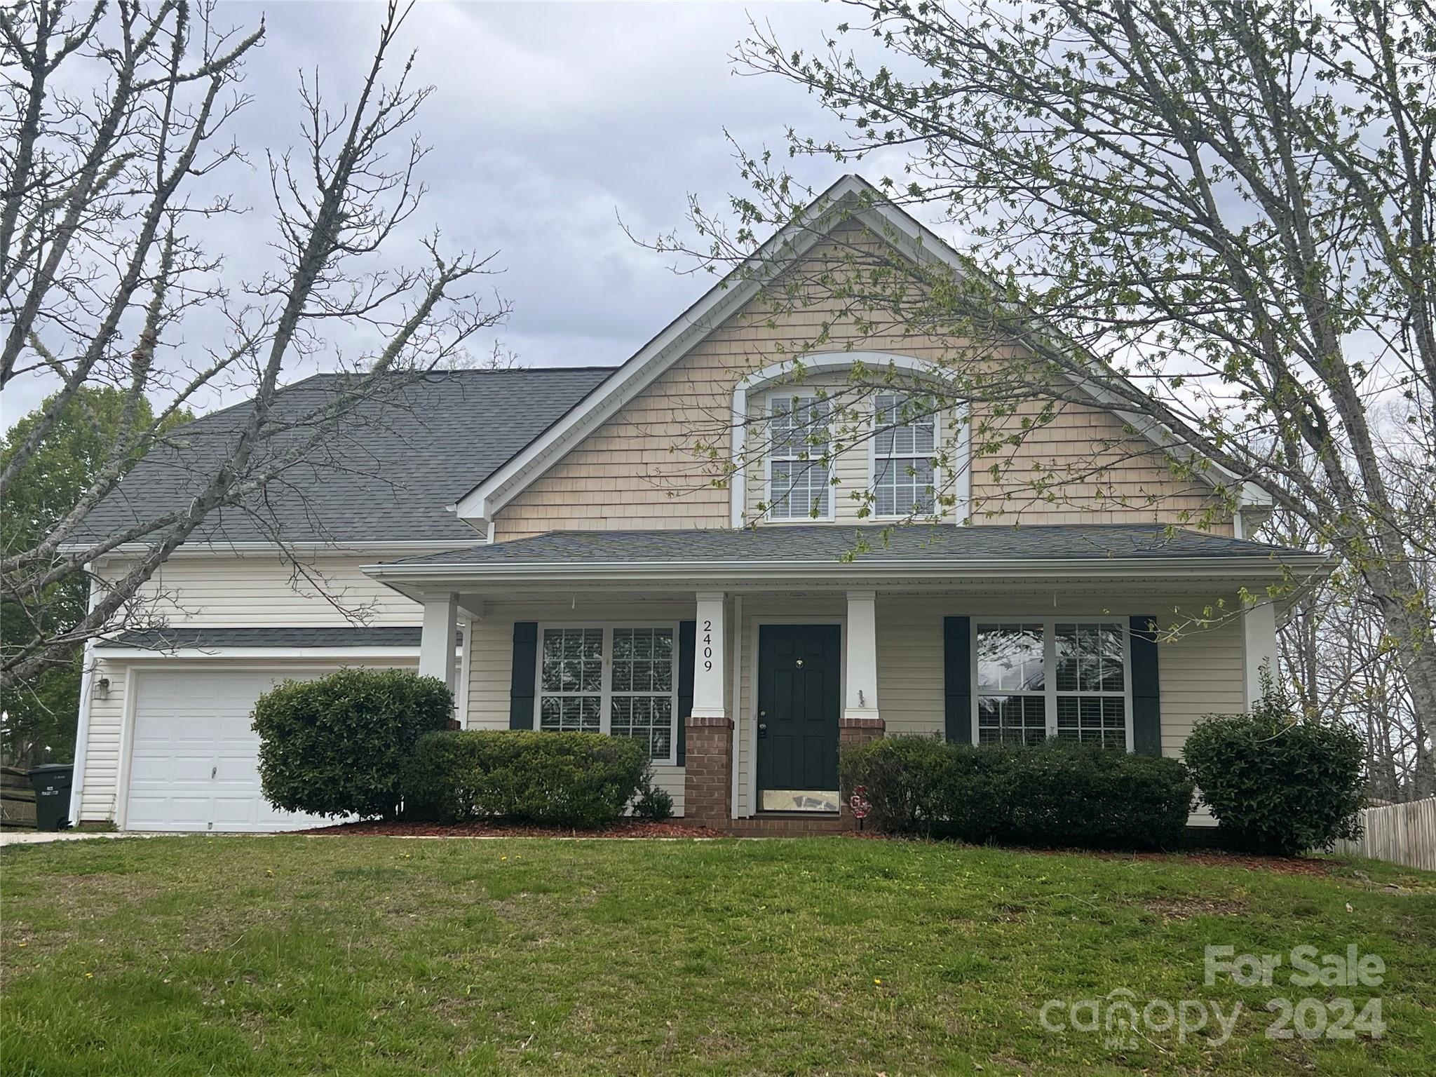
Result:
[[[1126,617],[1113,616],[1066,616],[1066,617],[972,617],[972,646],[971,646],[971,666],[968,675],[972,684],[972,742],[974,744],[994,744],[997,738],[992,737],[992,725],[988,725],[988,737],[984,740],[981,727],[981,704],[984,696],[1008,696],[1008,698],[1022,698],[1022,699],[1041,699],[1041,728],[1044,737],[1060,737],[1061,740],[1077,740],[1084,744],[1103,744],[1106,747],[1124,748],[1132,751],[1132,633],[1127,628]],[[1058,688],[1058,626],[1066,633],[1067,629],[1093,629],[1106,628],[1111,629],[1122,640],[1122,689],[1084,689],[1081,688],[1081,676],[1074,686]],[[984,629],[991,628],[1040,628],[1043,632],[1043,688],[1040,691],[995,691],[995,689],[979,689],[978,688],[978,645],[982,638]],[[1078,655],[1080,661],[1081,655]],[[1070,684],[1070,682],[1068,682]],[[1116,709],[1116,701],[1120,701],[1120,714]],[[1030,737],[1028,731],[1035,729],[1035,712],[1027,708],[1031,704],[1022,705],[1022,721],[1014,721],[1011,725],[1007,722],[1004,715],[1002,724],[998,728],[999,734],[1012,729],[1022,729],[1024,742],[1034,742],[1035,740],[1043,740],[1041,737]],[[1073,725],[1073,718],[1076,715],[1076,725]],[[1119,724],[1120,718],[1120,724]],[[1120,740],[1119,740],[1120,734]],[[1015,740],[1015,738],[1011,738]]]

